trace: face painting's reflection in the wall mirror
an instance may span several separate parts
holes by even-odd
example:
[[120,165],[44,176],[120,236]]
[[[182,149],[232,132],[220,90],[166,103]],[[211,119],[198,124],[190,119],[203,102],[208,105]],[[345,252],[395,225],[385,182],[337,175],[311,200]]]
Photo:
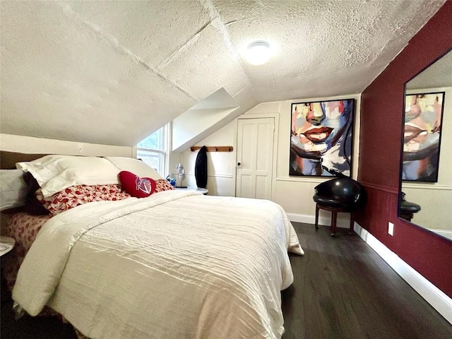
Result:
[[405,95],[402,180],[438,182],[444,92]]

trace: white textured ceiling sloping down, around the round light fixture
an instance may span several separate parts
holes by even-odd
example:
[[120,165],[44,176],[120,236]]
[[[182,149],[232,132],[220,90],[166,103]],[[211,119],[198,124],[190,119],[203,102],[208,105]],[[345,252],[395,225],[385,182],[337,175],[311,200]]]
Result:
[[134,145],[220,88],[236,114],[361,93],[443,3],[1,1],[0,131]]

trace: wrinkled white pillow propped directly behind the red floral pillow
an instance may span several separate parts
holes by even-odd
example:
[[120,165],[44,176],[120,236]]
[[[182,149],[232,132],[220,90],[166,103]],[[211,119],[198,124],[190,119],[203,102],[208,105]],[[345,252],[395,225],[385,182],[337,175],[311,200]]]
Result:
[[16,167],[33,174],[46,197],[74,185],[119,184],[118,168],[102,157],[46,155]]

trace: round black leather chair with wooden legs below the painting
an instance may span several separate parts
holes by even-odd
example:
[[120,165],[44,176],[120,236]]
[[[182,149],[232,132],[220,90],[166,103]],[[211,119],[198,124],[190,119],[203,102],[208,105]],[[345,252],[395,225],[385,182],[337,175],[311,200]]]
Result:
[[356,180],[340,177],[322,182],[315,187],[316,230],[319,230],[319,210],[330,210],[331,235],[335,234],[338,212],[350,213],[350,232],[353,232],[353,211],[364,206],[366,191]]

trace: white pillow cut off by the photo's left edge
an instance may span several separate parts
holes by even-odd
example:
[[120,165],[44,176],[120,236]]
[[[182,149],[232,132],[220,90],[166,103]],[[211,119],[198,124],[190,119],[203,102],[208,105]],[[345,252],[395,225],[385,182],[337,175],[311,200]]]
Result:
[[0,169],[0,210],[25,205],[27,184],[20,169]]

